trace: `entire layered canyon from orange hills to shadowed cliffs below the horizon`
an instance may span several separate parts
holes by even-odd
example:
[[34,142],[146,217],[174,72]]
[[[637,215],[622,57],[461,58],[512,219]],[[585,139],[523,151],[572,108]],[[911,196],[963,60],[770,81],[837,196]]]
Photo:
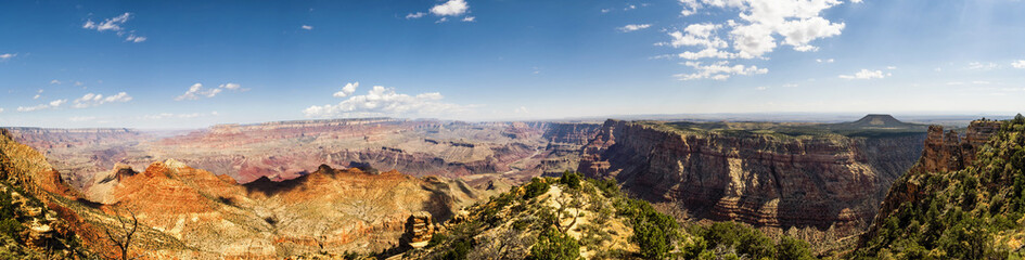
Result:
[[34,158],[20,166],[29,190],[48,197],[65,230],[103,240],[100,231],[138,219],[149,258],[422,246],[460,209],[567,170],[614,180],[687,223],[742,222],[821,251],[853,244],[919,155],[943,155],[920,167],[963,166],[992,131],[970,127],[950,143],[957,134],[888,115],[840,123],[366,118],[177,134],[10,128],[4,151]]

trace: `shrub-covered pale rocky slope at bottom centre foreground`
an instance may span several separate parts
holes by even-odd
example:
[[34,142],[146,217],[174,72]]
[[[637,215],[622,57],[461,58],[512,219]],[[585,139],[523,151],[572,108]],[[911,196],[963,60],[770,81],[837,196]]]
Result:
[[438,225],[410,218],[401,259],[810,259],[808,244],[734,222],[691,225],[628,198],[615,181],[565,172]]

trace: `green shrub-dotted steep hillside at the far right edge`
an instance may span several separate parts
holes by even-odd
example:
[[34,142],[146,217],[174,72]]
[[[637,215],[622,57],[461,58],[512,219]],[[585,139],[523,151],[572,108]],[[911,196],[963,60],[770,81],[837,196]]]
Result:
[[856,259],[1022,259],[1025,117],[930,129],[919,164],[889,190]]

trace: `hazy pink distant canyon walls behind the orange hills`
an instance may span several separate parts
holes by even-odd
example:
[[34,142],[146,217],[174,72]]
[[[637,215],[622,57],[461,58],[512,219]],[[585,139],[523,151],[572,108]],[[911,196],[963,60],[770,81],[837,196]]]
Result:
[[46,154],[69,184],[82,190],[118,164],[143,169],[166,159],[240,183],[294,179],[324,164],[418,177],[491,174],[473,183],[483,185],[576,168],[579,147],[598,127],[368,118],[220,125],[170,136],[130,129],[14,128],[12,134]]

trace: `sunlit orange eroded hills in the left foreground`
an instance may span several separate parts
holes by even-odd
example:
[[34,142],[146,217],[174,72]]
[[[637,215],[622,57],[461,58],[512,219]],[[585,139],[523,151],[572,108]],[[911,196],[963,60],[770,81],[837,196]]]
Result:
[[[110,234],[124,237],[129,233],[133,234],[129,257],[278,259],[367,253],[397,245],[402,224],[414,212],[444,221],[459,208],[497,193],[443,177],[369,173],[325,165],[292,180],[261,178],[238,184],[229,177],[171,159],[142,171],[127,166],[111,171],[102,178],[104,188],[89,191],[104,200],[92,203],[62,183],[41,154],[7,134],[2,139],[7,179],[46,205],[42,213],[30,216],[34,220],[25,219],[29,223],[25,227],[35,232],[37,225],[53,226],[24,236],[77,237],[68,239],[112,258],[123,253]],[[138,225],[132,224],[136,221]]]

